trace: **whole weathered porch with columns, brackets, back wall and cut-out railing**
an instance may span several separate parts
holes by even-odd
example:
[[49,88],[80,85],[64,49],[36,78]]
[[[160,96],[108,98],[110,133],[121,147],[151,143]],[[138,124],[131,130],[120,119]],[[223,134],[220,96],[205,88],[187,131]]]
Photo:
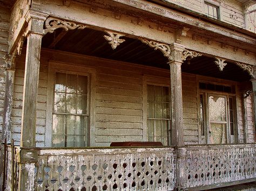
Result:
[[[242,83],[250,82],[253,69],[250,62],[241,63],[242,51],[233,59],[233,49],[215,55],[204,45],[192,51],[174,43],[177,39],[167,44],[124,37],[37,16],[31,11],[28,19],[38,31],[28,28],[26,54],[10,59],[4,132],[8,142],[12,132],[21,148],[7,147],[6,189],[200,190],[255,180],[253,97],[244,97],[251,86]],[[86,44],[90,39],[97,40]],[[117,45],[121,49],[113,52]],[[72,76],[75,80],[68,81]],[[212,104],[207,110],[207,101],[214,99],[221,107]],[[214,108],[221,112],[211,119],[207,115]],[[94,147],[159,137],[175,146]],[[199,145],[215,142],[223,145]]]

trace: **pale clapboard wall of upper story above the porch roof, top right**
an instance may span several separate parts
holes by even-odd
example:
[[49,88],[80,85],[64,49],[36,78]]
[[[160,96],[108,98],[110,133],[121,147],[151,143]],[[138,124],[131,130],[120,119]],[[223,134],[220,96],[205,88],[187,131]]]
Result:
[[[235,0],[166,0],[165,2],[176,4],[205,16],[207,12],[205,3],[208,3],[215,6],[219,10],[218,19],[222,22],[226,22],[244,29],[247,29],[246,23],[251,22],[251,20],[248,20],[247,17],[245,18],[246,1],[245,3]],[[248,28],[247,30],[255,32],[255,29],[252,30],[251,28],[252,27],[250,27],[250,29]]]

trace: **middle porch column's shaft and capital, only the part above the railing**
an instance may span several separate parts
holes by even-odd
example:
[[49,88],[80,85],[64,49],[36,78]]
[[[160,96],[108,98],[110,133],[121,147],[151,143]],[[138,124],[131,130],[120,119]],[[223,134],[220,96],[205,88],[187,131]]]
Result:
[[181,64],[184,46],[173,43],[171,46],[172,60],[169,62],[171,75],[171,119],[172,137],[174,146],[184,146],[183,132],[183,102],[181,84]]

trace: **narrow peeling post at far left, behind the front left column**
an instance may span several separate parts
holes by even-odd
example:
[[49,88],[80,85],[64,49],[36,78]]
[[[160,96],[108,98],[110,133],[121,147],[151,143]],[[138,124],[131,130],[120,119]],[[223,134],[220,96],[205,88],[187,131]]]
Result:
[[12,101],[14,95],[14,79],[15,79],[15,55],[6,56],[6,79],[5,79],[5,96],[4,96],[4,113],[3,113],[3,131],[2,142],[6,139],[6,143],[11,143],[11,114]]

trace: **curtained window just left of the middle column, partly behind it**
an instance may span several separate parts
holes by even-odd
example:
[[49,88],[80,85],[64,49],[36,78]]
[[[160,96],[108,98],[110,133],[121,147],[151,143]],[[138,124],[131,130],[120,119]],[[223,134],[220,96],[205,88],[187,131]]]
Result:
[[169,145],[169,87],[147,85],[147,140]]

